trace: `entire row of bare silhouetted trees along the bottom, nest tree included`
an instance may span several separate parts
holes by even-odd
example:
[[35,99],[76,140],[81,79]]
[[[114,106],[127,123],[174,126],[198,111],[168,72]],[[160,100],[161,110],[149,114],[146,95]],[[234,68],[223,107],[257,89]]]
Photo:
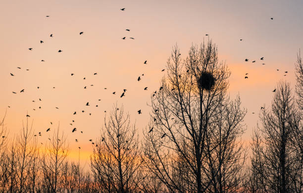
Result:
[[89,171],[68,160],[59,127],[38,144],[27,117],[8,140],[3,118],[0,193],[303,193],[300,53],[294,92],[290,83],[277,83],[250,145],[241,141],[247,110],[227,94],[231,72],[217,54],[211,41],[192,46],[185,59],[175,46],[151,95],[143,138],[123,106],[113,105],[92,145]]

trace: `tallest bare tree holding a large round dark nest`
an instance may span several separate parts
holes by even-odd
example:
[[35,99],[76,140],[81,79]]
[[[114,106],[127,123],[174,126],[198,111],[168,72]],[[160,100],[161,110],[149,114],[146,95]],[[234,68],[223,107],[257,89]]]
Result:
[[226,94],[229,76],[211,41],[192,46],[185,60],[173,48],[167,76],[152,94],[144,145],[146,166],[169,192],[235,190],[245,159],[238,139],[246,111],[240,98]]

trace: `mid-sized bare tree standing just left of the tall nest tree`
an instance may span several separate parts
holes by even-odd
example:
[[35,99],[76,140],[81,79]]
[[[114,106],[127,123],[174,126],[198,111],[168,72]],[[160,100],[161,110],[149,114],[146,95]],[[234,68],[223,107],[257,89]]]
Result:
[[94,146],[91,168],[104,192],[135,193],[139,186],[141,148],[135,126],[123,106],[114,105],[109,118],[104,118],[101,139]]

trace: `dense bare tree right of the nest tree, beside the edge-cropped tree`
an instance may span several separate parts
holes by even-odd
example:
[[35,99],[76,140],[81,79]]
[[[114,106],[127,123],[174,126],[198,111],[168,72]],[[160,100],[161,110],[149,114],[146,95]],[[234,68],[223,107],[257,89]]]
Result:
[[302,193],[303,154],[296,150],[294,144],[294,125],[298,126],[300,122],[297,109],[290,85],[279,82],[271,109],[261,110],[262,127],[258,126],[253,136],[254,190],[261,193]]

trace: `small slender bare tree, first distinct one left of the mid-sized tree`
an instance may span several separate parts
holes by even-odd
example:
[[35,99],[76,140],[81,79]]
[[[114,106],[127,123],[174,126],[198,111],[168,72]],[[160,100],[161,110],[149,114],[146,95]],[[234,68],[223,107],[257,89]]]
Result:
[[43,170],[43,188],[45,192],[57,193],[63,187],[63,164],[68,153],[68,145],[63,132],[59,134],[59,127],[46,144],[41,157]]

